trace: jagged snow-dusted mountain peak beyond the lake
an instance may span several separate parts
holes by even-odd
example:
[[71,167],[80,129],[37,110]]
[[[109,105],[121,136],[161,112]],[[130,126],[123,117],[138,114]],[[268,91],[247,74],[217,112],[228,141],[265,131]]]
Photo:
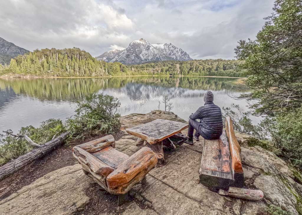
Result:
[[192,58],[171,43],[150,44],[145,39],[134,40],[124,50],[107,51],[96,57],[106,62],[121,62],[123,64],[141,64],[149,61],[190,61]]

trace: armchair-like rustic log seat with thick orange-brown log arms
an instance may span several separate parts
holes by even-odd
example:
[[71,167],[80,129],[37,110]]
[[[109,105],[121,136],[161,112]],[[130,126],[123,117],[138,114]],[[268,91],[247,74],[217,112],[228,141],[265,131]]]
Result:
[[154,152],[143,147],[130,157],[114,149],[112,135],[73,147],[72,154],[86,175],[111,194],[125,194],[156,167]]

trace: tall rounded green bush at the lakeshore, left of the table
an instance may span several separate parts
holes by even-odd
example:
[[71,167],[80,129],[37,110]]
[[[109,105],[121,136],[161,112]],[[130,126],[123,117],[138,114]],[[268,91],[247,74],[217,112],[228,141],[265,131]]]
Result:
[[120,129],[117,98],[103,93],[86,96],[78,103],[76,114],[66,122],[70,138],[83,139],[93,134],[114,134]]

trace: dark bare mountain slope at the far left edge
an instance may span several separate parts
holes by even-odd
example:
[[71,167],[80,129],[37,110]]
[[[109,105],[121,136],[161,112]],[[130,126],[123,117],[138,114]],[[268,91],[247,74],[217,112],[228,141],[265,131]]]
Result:
[[9,64],[11,58],[24,55],[27,52],[29,51],[25,48],[21,48],[0,37],[0,64]]

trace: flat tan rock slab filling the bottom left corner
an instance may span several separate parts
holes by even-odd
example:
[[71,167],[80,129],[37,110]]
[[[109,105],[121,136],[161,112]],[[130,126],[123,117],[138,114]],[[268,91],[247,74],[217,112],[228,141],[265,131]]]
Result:
[[0,214],[73,214],[84,208],[92,183],[80,164],[63,167],[37,179],[0,201]]

